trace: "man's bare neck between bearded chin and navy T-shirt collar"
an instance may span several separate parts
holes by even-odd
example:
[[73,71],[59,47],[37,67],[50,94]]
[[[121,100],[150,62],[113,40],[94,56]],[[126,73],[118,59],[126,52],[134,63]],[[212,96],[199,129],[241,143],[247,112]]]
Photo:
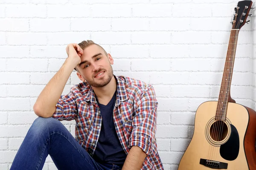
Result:
[[113,76],[111,81],[108,83],[108,85],[105,85],[102,88],[96,88],[96,87],[92,87],[92,88],[100,103],[102,104],[108,103],[109,102],[108,100],[113,97],[113,94],[116,91],[116,79]]

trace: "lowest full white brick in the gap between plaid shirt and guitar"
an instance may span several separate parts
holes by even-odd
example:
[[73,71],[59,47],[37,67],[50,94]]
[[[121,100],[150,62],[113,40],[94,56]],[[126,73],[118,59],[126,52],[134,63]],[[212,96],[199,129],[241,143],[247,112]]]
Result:
[[[163,164],[172,162],[173,164],[179,164],[183,153],[180,152],[159,152],[159,156]],[[171,169],[173,170],[173,169]]]

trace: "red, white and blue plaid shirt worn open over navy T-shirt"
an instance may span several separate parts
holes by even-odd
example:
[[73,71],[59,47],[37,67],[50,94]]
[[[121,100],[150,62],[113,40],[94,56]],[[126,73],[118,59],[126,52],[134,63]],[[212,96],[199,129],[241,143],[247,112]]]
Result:
[[[147,155],[141,170],[163,170],[157,152],[156,119],[158,102],[154,88],[136,79],[114,76],[117,82],[113,120],[123,150],[140,147]],[[93,156],[102,125],[102,117],[93,88],[81,82],[62,95],[53,118],[76,120],[76,140]]]

